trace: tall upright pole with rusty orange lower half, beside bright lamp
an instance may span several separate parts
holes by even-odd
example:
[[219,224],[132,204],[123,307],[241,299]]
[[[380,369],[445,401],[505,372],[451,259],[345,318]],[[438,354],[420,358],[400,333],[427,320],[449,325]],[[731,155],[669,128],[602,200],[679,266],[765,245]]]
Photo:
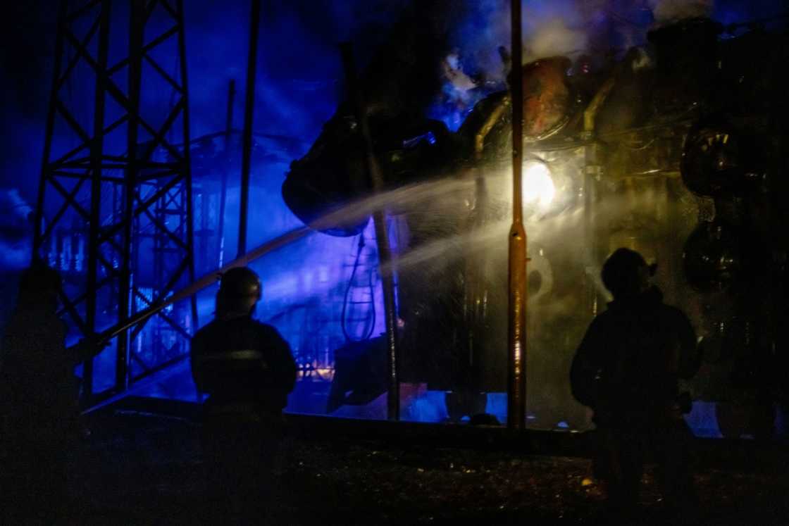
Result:
[[523,80],[521,0],[511,0],[512,226],[510,226],[507,427],[526,423],[526,231],[523,226]]

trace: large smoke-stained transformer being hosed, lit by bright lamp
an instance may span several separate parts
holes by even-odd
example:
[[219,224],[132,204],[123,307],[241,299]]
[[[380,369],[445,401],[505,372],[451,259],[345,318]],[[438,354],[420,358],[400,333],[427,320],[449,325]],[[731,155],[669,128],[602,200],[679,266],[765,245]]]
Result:
[[[406,262],[395,265],[400,380],[451,392],[454,418],[484,412],[485,394],[506,390],[507,243],[499,226],[508,218],[502,180],[512,115],[503,89],[469,108],[457,131],[425,117],[435,86],[411,84],[437,68],[432,55],[413,50],[440,47],[441,28],[432,29],[402,43],[398,53],[415,58],[396,78],[380,67],[387,50],[376,55],[362,91],[385,189],[418,191],[424,181],[462,188],[389,210],[406,232],[395,251]],[[724,37],[720,24],[690,19],[654,29],[645,46],[617,60],[548,57],[523,67],[535,425],[587,424],[567,371],[585,326],[604,308],[600,266],[621,246],[658,263],[667,302],[687,311],[703,336],[705,365],[689,387],[716,402],[724,435],[768,434],[774,406],[787,405],[789,111],[780,79],[789,46],[787,35],[758,29]],[[340,106],[291,165],[282,196],[305,224],[372,192],[358,127],[350,106]],[[367,221],[321,229],[351,236]],[[407,263],[425,250],[432,256],[422,264]],[[733,416],[735,407],[750,408],[749,416]]]

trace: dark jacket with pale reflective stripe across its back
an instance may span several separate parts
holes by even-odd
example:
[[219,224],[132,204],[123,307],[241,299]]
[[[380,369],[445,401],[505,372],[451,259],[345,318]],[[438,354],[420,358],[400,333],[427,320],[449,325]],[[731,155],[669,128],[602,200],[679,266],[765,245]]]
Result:
[[209,411],[279,414],[296,382],[290,346],[274,327],[250,316],[214,320],[198,330],[190,359]]

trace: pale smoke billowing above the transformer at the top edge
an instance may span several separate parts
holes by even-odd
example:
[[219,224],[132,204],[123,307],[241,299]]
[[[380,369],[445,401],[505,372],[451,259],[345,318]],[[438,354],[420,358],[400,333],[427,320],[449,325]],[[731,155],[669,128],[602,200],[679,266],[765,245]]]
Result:
[[[441,100],[431,111],[451,129],[484,95],[506,88],[510,69],[510,0],[458,0],[457,4],[468,14],[451,35],[453,51],[444,58]],[[623,51],[644,43],[649,28],[710,17],[712,8],[713,0],[524,1],[523,61]]]

